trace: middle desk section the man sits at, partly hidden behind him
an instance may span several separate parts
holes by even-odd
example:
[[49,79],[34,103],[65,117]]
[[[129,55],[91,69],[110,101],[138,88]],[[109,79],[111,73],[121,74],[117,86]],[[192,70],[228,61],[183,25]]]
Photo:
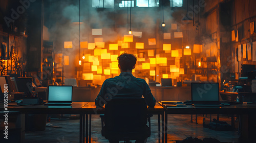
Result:
[[[86,140],[91,142],[91,115],[92,114],[104,114],[104,108],[97,108],[94,102],[89,102],[86,106],[83,106],[84,112],[86,113],[86,118],[89,115],[89,135],[88,135],[88,122],[86,122]],[[164,113],[165,109],[156,103],[154,108],[147,108],[148,114],[157,114],[158,115],[158,142],[160,142],[161,138],[161,130],[160,130],[160,115],[162,116],[162,142],[164,142]],[[88,121],[88,120],[87,120]]]

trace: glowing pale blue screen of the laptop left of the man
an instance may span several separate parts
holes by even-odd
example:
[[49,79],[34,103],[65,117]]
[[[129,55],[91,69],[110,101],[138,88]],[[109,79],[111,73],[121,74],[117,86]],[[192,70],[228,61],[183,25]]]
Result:
[[48,86],[48,102],[72,102],[73,86]]

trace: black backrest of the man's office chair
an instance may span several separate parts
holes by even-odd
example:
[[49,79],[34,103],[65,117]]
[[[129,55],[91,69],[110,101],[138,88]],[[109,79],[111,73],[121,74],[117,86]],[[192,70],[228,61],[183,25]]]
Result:
[[105,128],[108,134],[143,132],[147,123],[144,99],[111,99],[105,105]]

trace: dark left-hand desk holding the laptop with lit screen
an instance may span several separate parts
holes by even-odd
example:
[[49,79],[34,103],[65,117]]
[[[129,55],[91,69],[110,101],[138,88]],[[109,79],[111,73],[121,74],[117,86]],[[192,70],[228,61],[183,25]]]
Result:
[[[4,103],[0,103],[0,110],[4,110]],[[7,111],[20,111],[24,114],[79,114],[79,142],[84,142],[84,109],[88,102],[73,102],[72,106],[46,106],[46,105],[24,105],[14,106],[16,103],[8,103]],[[8,112],[7,112],[8,113]],[[87,120],[87,119],[86,119]]]

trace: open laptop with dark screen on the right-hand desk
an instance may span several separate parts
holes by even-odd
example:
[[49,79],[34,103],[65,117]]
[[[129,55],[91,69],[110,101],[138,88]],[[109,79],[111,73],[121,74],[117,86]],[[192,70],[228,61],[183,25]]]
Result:
[[191,83],[191,104],[193,106],[223,106],[220,104],[219,83]]

